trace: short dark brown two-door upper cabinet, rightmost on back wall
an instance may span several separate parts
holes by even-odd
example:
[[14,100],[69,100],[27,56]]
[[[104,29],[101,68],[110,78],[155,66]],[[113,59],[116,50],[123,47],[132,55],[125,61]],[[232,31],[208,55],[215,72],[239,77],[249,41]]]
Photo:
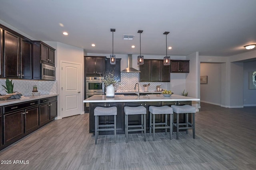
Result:
[[171,72],[189,72],[189,60],[171,60]]

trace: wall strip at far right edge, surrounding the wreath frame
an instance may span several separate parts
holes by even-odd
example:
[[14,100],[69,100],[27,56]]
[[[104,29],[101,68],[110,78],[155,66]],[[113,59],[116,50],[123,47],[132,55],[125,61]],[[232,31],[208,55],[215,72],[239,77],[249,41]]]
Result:
[[256,89],[249,89],[251,71],[256,71],[256,61],[244,63],[244,106],[256,106]]

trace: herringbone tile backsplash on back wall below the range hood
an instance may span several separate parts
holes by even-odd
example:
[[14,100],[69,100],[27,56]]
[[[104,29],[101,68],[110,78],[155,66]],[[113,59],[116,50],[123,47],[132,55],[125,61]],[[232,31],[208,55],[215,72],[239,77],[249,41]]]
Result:
[[140,91],[144,91],[143,84],[150,83],[148,86],[148,91],[155,91],[156,86],[161,85],[160,88],[168,89],[170,86],[170,82],[139,82],[139,74],[138,73],[122,73],[121,72],[121,82],[119,82],[115,86],[115,90],[117,91],[133,91],[136,83],[140,84]]

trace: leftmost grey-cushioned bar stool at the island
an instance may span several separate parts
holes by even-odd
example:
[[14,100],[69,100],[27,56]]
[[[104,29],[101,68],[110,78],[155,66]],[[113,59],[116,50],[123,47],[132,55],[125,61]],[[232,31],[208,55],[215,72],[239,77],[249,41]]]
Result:
[[[116,143],[116,114],[117,108],[116,106],[113,107],[100,107],[97,106],[94,109],[94,116],[95,116],[95,144],[97,144],[97,138],[99,136],[99,131],[114,131],[115,143]],[[99,125],[99,116],[108,116],[114,115],[114,124],[109,125]],[[100,127],[114,127],[109,129],[100,129]]]

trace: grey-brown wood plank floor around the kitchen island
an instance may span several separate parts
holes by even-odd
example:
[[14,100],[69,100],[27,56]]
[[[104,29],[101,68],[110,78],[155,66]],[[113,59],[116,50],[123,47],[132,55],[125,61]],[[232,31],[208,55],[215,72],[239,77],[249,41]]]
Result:
[[192,131],[100,136],[89,133],[89,114],[55,120],[0,151],[0,160],[29,164],[0,164],[1,170],[255,170],[256,107],[224,108],[201,103]]

